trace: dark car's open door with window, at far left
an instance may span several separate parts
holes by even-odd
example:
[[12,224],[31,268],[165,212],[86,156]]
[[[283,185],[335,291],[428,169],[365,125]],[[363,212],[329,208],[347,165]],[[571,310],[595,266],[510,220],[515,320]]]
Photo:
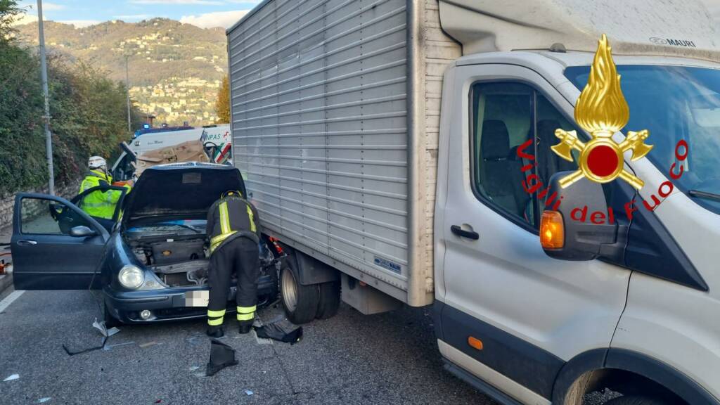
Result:
[[16,290],[99,286],[100,277],[95,276],[110,224],[117,221],[127,192],[124,187],[94,187],[73,200],[81,202],[84,195],[100,189],[120,194],[112,220],[104,220],[104,225],[61,197],[28,193],[15,197],[10,249]]

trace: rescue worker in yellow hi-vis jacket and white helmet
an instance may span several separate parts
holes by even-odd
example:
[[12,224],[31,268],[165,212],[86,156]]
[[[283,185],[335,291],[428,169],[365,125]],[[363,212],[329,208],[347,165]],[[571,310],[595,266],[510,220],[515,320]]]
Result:
[[[86,174],[85,179],[80,184],[80,191],[84,192],[92,187],[98,187],[102,185],[112,185],[112,176],[107,172],[107,163],[105,159],[100,156],[91,156],[88,160],[89,172]],[[125,184],[128,191],[130,186]],[[115,206],[120,200],[122,192],[118,190],[96,190],[86,195],[79,204],[81,210],[84,210],[88,215],[99,219],[103,226],[111,226],[108,223],[112,220],[115,214]]]

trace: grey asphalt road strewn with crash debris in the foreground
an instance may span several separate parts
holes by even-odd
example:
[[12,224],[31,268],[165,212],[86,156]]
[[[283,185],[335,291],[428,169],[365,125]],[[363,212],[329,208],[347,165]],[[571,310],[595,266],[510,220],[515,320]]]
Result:
[[[222,342],[240,365],[214,377],[204,377],[204,321],[121,326],[105,350],[68,356],[63,344],[101,342],[91,326],[100,316],[87,291],[22,293],[0,313],[0,403],[493,404],[443,370],[430,308],[364,316],[343,305],[334,318],[305,325],[292,346],[238,335],[228,321]],[[3,381],[13,374],[19,378]]]

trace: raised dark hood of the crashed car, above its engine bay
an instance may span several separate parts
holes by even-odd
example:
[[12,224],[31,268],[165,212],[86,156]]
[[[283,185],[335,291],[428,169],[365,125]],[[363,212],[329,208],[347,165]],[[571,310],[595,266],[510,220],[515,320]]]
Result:
[[151,215],[204,215],[227,190],[246,195],[240,171],[233,166],[197,162],[153,166],[128,195],[122,221]]

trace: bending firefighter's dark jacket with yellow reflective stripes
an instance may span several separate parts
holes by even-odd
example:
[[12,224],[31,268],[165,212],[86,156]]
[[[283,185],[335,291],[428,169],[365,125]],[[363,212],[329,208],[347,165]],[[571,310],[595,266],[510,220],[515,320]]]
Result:
[[230,196],[215,201],[207,211],[210,254],[240,236],[245,236],[258,243],[260,227],[257,223],[258,212],[248,200]]

